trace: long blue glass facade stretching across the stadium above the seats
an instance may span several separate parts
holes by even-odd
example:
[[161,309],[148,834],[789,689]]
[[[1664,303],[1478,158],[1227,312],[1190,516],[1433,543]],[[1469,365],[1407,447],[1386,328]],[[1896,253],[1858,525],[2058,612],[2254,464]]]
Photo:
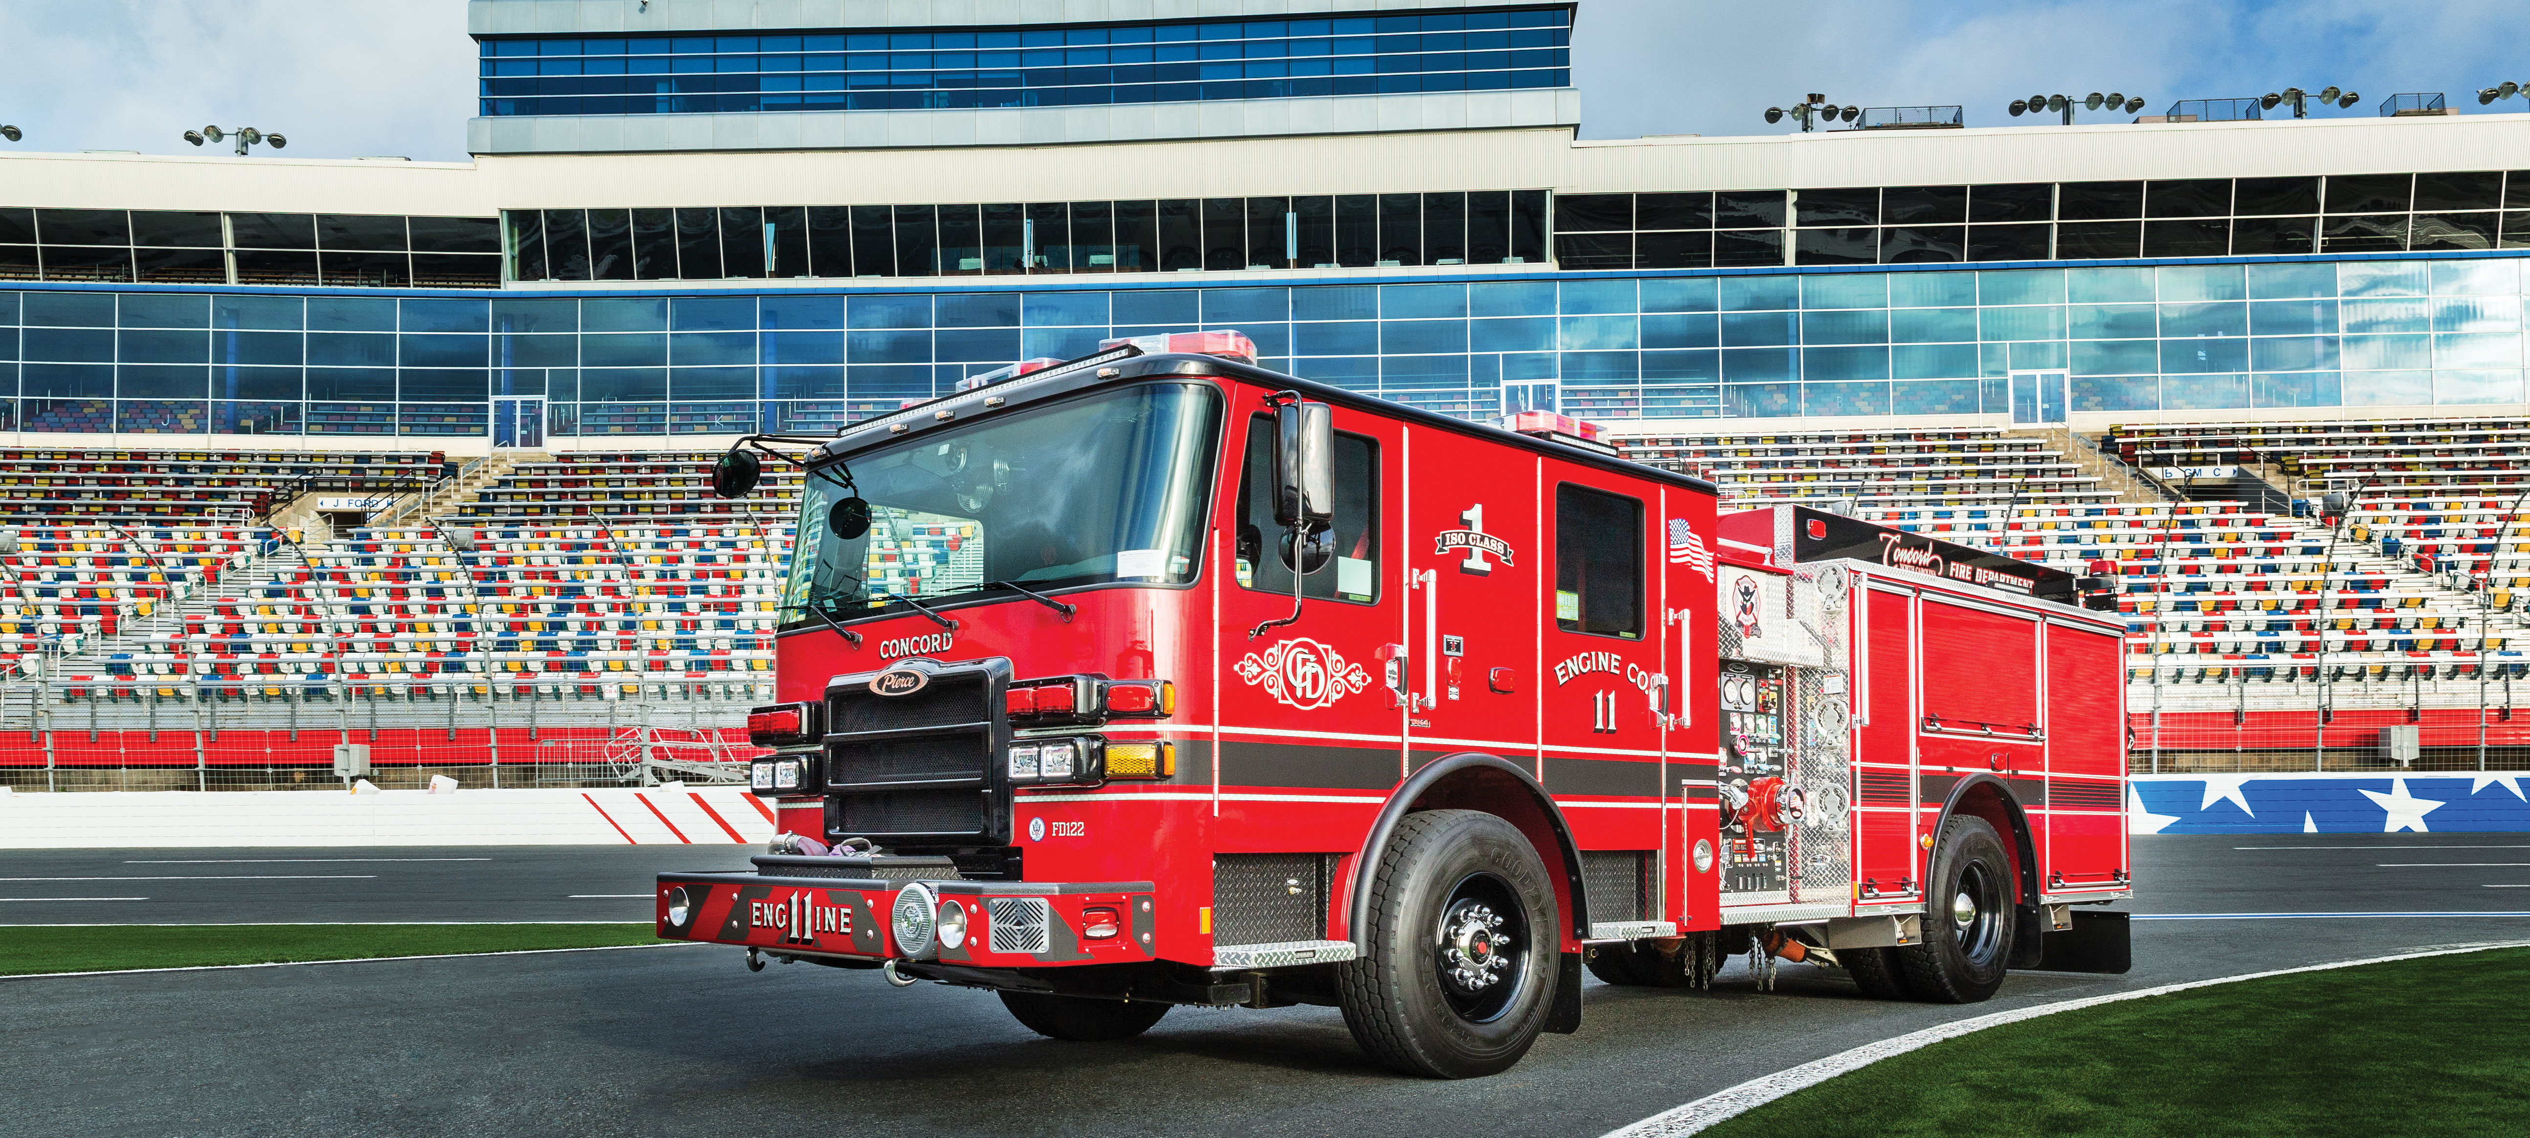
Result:
[[[0,291],[0,415],[56,432],[832,430],[1015,359],[1240,329],[1265,364],[1490,417],[2001,415],[2522,402],[2522,255],[1538,276],[1237,288],[377,296]],[[1085,281],[1083,281],[1085,283]]]

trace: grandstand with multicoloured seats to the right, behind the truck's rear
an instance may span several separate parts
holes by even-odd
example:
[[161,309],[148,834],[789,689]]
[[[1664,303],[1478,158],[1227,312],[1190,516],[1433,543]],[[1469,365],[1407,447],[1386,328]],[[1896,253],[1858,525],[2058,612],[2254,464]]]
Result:
[[[2368,751],[2353,738],[2381,723],[2431,726],[2421,746],[2467,764],[2482,706],[2500,723],[2492,749],[2530,743],[2510,718],[2512,685],[2530,695],[2530,420],[1612,443],[1713,478],[1723,508],[1834,508],[2110,577],[2145,766],[2171,751],[2171,764],[2307,769],[2323,751],[2320,723],[2325,751]],[[2345,496],[2343,523],[2328,513],[2330,493]]]

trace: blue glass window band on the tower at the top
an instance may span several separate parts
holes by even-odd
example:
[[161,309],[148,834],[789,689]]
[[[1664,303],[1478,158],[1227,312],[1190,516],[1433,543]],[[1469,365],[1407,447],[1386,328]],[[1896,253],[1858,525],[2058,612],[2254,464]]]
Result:
[[916,111],[1571,86],[1571,8],[481,40],[481,114]]

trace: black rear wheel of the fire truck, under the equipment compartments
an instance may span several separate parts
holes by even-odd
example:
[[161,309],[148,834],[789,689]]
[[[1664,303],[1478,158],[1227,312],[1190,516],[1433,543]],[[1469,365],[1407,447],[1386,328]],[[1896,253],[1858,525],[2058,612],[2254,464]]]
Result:
[[1923,943],[1897,948],[1905,989],[1925,1004],[1978,1004],[2004,986],[2011,961],[2011,857],[1986,819],[1956,814],[1933,842]]

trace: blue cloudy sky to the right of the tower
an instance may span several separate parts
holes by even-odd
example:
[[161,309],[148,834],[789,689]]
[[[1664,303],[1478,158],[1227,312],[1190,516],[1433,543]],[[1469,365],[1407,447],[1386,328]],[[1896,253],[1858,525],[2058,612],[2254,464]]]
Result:
[[1961,104],[1968,126],[2006,126],[2004,106],[2032,94],[2123,89],[2145,96],[2140,114],[2161,114],[2178,99],[2345,86],[2363,104],[2328,114],[2371,116],[2393,91],[2447,91],[2477,111],[2474,89],[2530,78],[2512,73],[2530,71],[2512,53],[2525,33],[2530,10],[2492,0],[1584,0],[1574,73],[1591,139],[1781,132],[1761,111],[1809,91],[1860,106]]

